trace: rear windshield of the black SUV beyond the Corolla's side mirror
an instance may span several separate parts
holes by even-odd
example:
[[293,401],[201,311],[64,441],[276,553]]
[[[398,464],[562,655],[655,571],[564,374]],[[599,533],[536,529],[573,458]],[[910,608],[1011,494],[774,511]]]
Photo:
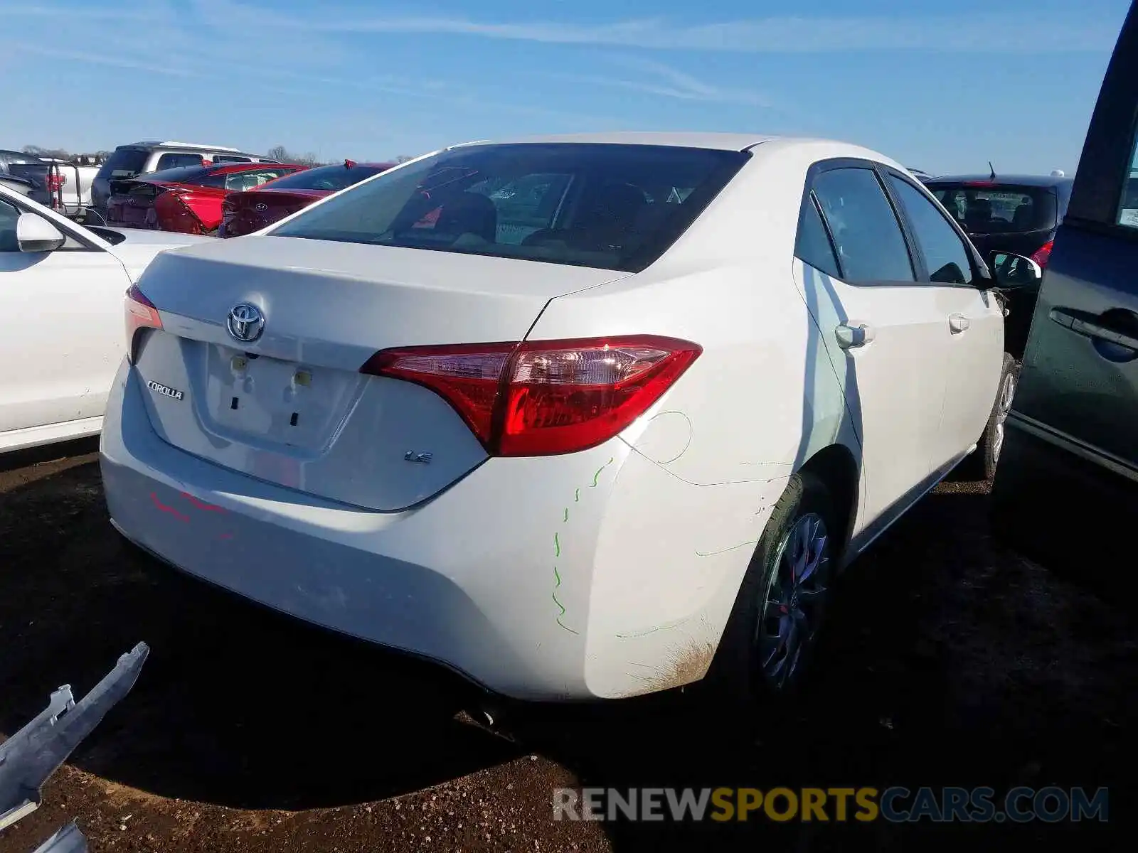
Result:
[[1050,187],[927,183],[932,193],[970,234],[1050,231],[1058,224],[1058,194]]

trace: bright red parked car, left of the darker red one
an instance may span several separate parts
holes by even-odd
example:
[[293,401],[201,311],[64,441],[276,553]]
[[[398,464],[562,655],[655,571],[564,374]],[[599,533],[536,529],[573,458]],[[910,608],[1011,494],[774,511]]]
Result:
[[110,182],[107,224],[211,234],[222,220],[228,193],[259,187],[304,171],[283,163],[181,166]]

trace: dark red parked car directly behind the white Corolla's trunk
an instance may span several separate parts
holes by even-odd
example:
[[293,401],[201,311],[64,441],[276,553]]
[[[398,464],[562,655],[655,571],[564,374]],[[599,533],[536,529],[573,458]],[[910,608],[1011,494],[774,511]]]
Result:
[[345,190],[394,165],[344,160],[335,166],[316,166],[302,174],[287,175],[256,190],[233,193],[222,206],[223,222],[217,237],[251,234],[324,196]]

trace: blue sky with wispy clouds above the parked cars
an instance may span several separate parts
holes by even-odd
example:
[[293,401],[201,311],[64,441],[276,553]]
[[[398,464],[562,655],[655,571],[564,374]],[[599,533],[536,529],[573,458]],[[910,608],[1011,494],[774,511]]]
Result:
[[[1078,165],[1129,0],[0,0],[0,148],[333,159],[597,130]],[[714,10],[712,10],[714,9]]]

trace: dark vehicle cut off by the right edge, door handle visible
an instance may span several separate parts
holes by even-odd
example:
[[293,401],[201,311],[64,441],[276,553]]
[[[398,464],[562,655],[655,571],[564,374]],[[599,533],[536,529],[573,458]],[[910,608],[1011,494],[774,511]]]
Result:
[[995,531],[1115,582],[1138,522],[1138,3],[1107,67],[1028,336]]

